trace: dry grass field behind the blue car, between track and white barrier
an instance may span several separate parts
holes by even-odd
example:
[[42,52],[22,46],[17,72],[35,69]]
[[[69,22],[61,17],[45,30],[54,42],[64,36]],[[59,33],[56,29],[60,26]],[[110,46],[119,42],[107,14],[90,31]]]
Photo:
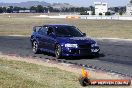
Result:
[[[11,15],[9,18],[8,16]],[[32,27],[43,24],[70,24],[91,37],[131,38],[132,21],[33,18],[34,14],[0,15],[0,35],[30,35]],[[35,14],[38,15],[38,14]]]

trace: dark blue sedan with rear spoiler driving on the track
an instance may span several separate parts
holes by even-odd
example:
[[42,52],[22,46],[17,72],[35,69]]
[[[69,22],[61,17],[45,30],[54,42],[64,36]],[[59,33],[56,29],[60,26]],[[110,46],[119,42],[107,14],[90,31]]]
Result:
[[35,54],[45,51],[55,54],[56,58],[98,55],[100,51],[97,42],[85,33],[64,24],[35,26],[30,40]]

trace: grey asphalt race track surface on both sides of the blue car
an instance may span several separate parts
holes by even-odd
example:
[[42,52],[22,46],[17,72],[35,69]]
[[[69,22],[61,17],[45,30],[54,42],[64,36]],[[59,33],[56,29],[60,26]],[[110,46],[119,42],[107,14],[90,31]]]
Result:
[[[55,58],[46,53],[34,55],[29,39],[29,37],[21,36],[0,36],[0,53],[21,57],[35,56],[41,59]],[[61,61],[132,77],[132,41],[105,39],[97,40],[97,42],[101,48],[99,57],[69,57]]]

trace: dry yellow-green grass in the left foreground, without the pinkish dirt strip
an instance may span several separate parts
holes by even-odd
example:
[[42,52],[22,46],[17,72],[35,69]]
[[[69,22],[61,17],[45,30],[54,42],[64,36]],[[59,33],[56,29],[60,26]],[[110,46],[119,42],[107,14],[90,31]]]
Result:
[[78,74],[0,58],[0,88],[79,88]]

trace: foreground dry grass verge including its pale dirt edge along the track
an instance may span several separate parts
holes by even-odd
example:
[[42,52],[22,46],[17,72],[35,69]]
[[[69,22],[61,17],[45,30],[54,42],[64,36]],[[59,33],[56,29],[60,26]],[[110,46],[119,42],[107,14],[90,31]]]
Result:
[[[80,69],[74,69],[76,70],[74,72],[69,70],[71,69],[69,67],[51,65],[30,58],[0,55],[0,88],[83,88],[78,82]],[[62,67],[67,70],[62,70]],[[108,74],[101,74],[90,71],[90,79],[115,78]],[[93,87],[106,88],[106,86],[88,86],[86,88]],[[107,88],[111,87],[131,88],[131,86],[107,86]]]

